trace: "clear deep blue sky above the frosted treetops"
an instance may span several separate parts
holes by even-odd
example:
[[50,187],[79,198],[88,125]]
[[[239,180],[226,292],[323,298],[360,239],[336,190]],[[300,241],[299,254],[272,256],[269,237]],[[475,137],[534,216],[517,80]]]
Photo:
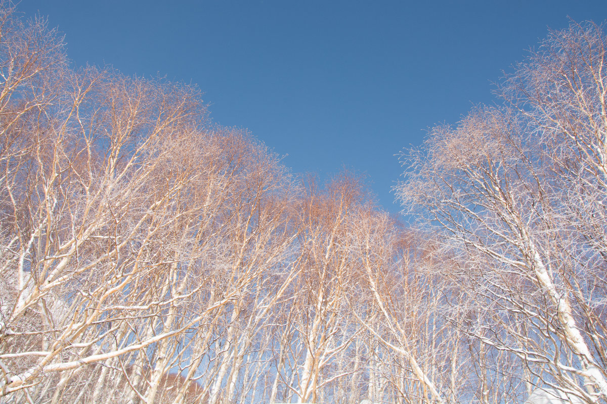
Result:
[[75,65],[197,84],[211,118],[248,128],[294,173],[366,174],[397,211],[394,154],[494,102],[492,82],[548,27],[607,1],[22,0]]

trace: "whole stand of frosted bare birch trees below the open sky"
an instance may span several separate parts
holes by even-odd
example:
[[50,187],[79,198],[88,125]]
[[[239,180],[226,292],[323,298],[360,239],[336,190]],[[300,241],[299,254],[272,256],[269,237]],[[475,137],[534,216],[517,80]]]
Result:
[[396,217],[2,3],[0,403],[607,403],[605,45],[549,31]]

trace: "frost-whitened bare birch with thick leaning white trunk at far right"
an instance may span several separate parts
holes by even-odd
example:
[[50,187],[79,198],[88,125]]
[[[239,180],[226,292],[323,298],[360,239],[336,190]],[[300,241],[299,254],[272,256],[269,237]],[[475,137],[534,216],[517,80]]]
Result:
[[592,24],[551,33],[504,84],[507,107],[433,130],[398,187],[441,231],[436,268],[470,297],[463,329],[518,357],[513,376],[588,402],[607,397],[604,44]]

